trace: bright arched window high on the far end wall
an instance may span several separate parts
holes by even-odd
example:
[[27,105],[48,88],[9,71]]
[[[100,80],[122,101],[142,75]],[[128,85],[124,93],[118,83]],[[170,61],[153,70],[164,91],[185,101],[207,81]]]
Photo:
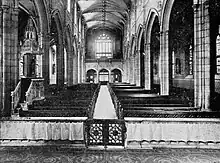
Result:
[[112,58],[112,40],[103,33],[95,41],[96,58],[107,57]]

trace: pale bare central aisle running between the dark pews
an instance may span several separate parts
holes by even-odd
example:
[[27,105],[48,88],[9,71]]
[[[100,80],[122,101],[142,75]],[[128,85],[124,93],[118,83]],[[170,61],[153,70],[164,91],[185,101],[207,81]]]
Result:
[[117,119],[108,87],[101,85],[98,99],[95,105],[94,119]]

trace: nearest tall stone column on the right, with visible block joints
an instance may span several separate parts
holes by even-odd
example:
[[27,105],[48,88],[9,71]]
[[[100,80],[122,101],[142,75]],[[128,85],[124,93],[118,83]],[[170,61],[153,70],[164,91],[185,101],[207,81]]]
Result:
[[194,104],[210,111],[210,17],[209,3],[194,5]]

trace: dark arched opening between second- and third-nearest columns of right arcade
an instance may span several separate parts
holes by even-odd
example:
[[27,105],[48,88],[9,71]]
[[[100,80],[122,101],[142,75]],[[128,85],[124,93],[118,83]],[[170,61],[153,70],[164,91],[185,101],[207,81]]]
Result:
[[158,87],[159,79],[159,56],[160,56],[160,25],[158,16],[155,16],[150,34],[150,67],[151,67],[151,90]]

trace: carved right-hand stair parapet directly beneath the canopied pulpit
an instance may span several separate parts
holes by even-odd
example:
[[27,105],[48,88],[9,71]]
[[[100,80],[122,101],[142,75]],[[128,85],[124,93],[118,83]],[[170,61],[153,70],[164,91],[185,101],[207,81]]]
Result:
[[25,96],[27,105],[31,105],[34,100],[43,99],[44,79],[31,79],[31,84]]

